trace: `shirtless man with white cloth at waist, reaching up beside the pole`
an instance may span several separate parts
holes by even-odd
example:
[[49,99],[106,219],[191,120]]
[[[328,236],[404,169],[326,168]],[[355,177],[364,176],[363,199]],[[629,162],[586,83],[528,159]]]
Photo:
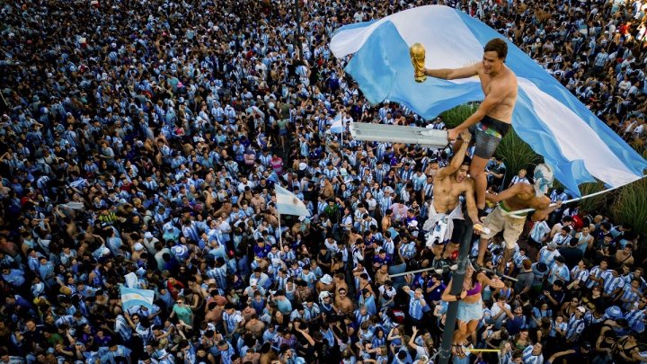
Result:
[[[474,182],[467,176],[469,161],[465,161],[465,150],[472,135],[467,130],[457,140],[458,150],[448,166],[439,169],[434,177],[433,199],[429,202],[429,218],[422,226],[427,235],[427,246],[435,255],[435,265],[442,265],[443,255],[455,252],[460,244],[463,230],[463,211],[460,196],[465,193],[467,214],[474,224],[479,222],[474,202]],[[445,245],[448,244],[446,248]],[[445,254],[443,254],[443,251]]]

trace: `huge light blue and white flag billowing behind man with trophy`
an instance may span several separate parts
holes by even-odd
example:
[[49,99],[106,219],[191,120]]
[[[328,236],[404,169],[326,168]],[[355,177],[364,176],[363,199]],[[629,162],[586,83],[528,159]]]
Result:
[[[426,119],[471,101],[483,100],[478,76],[460,80],[413,79],[409,47],[426,49],[425,67],[466,67],[483,58],[483,47],[503,38],[454,8],[428,5],[374,22],[341,27],[330,49],[337,58],[353,54],[345,70],[369,102],[400,102]],[[544,68],[510,40],[506,65],[518,77],[512,126],[573,194],[595,178],[618,187],[643,176],[647,161],[599,120]]]

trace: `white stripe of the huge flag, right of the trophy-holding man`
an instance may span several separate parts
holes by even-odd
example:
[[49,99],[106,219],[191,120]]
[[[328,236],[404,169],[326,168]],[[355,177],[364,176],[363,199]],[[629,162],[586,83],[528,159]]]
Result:
[[580,122],[581,118],[562,102],[554,100],[553,96],[525,78],[518,78],[518,84],[532,100],[531,106],[537,117],[545,121],[546,128],[557,140],[566,159],[582,160],[589,173],[611,186],[634,182],[639,178],[626,168],[625,163],[589,125]]

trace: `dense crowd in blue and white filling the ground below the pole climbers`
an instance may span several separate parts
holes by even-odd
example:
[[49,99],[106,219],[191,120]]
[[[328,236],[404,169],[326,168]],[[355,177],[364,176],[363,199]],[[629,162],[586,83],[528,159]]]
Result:
[[[499,236],[479,256],[474,235],[479,263],[516,281],[470,267],[474,285],[448,297],[456,251],[428,246],[423,225],[465,148],[331,131],[336,118],[445,128],[368,104],[327,47],[343,24],[422,4],[3,2],[0,363],[422,364],[454,325],[448,302],[476,295],[455,363],[647,361],[632,226],[563,205],[510,260]],[[644,150],[640,0],[445,4]],[[491,194],[513,174],[532,182],[497,158],[487,171]],[[279,217],[277,183],[311,216]],[[130,273],[153,305],[124,309]]]

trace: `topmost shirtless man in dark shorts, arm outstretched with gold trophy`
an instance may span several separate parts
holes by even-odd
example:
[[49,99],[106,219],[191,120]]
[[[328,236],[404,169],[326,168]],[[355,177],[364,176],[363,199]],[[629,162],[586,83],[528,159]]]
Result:
[[456,69],[425,68],[424,71],[425,75],[445,80],[474,75],[481,79],[485,99],[474,114],[448,131],[449,140],[458,138],[465,129],[469,129],[475,136],[476,149],[469,174],[474,179],[478,209],[485,209],[485,165],[510,130],[512,111],[517,102],[517,76],[503,64],[507,56],[508,44],[505,40],[495,38],[485,45],[482,62]]

